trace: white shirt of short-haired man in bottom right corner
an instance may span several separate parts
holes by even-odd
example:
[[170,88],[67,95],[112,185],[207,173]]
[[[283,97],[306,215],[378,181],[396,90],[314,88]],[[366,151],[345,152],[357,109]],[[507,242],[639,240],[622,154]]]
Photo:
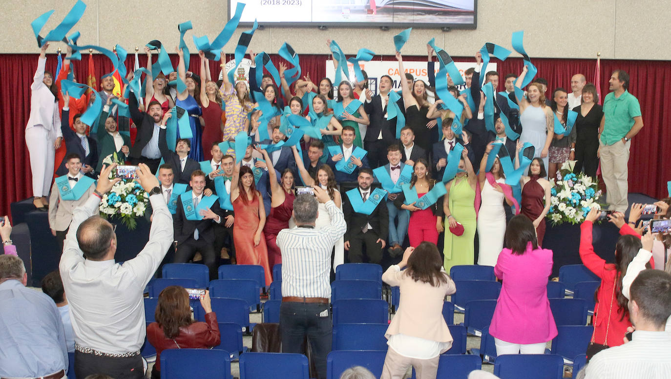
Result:
[[631,342],[602,350],[586,366],[585,379],[671,378],[671,333],[633,332]]

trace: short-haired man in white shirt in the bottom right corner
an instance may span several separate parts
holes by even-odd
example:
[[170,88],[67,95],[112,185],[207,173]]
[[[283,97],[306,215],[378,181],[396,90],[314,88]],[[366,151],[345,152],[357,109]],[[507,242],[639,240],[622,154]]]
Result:
[[664,330],[671,315],[671,275],[641,271],[630,289],[629,317],[635,326],[631,342],[596,354],[585,378],[668,378],[671,334]]

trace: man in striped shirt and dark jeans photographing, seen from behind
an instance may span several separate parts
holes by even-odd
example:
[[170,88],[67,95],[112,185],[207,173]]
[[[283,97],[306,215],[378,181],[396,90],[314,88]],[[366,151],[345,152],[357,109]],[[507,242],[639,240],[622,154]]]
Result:
[[[297,228],[277,234],[282,252],[282,305],[280,331],[282,352],[304,352],[307,335],[319,379],[326,378],[326,356],[331,351],[331,250],[347,230],[342,211],[329,194],[314,187],[315,196],[299,195],[293,203]],[[331,217],[329,228],[315,229],[317,201]]]

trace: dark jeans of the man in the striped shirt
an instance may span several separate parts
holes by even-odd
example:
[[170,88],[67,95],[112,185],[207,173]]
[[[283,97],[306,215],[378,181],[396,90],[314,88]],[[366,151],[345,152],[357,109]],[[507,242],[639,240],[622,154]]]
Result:
[[331,352],[332,332],[328,304],[286,301],[280,305],[282,353],[304,354],[303,341],[307,335],[318,379],[326,378],[326,356]]

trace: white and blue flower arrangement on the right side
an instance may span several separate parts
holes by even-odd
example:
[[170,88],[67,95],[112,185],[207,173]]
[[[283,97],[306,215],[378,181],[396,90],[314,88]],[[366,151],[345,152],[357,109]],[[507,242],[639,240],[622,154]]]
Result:
[[599,183],[592,181],[592,177],[584,173],[573,173],[576,161],[566,161],[552,178],[553,187],[550,190],[550,211],[547,218],[553,225],[570,222],[578,224],[584,221],[586,214],[592,209],[601,209],[599,199],[601,190]]

